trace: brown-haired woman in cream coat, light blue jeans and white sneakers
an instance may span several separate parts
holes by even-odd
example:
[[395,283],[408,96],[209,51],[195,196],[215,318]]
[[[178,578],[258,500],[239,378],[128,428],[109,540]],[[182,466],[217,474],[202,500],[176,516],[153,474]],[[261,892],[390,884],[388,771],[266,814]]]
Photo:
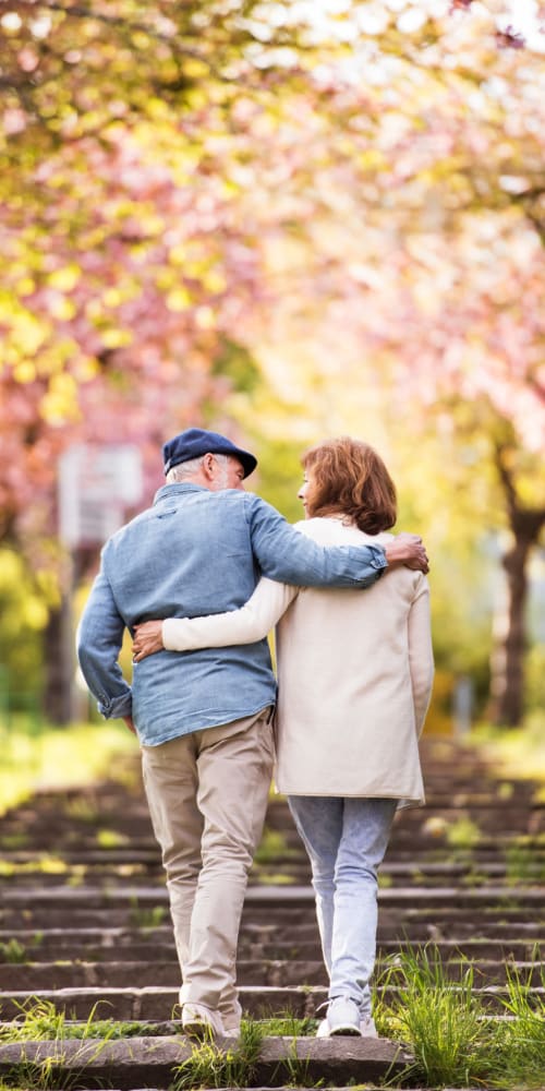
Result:
[[[323,546],[386,544],[396,489],[350,437],[303,455],[298,527]],[[387,571],[364,595],[262,579],[240,610],[138,626],[134,658],[262,639],[276,625],[276,784],[312,866],[328,1006],[318,1035],[375,1036],[377,873],[397,807],[424,801],[419,738],[434,663],[426,577]]]

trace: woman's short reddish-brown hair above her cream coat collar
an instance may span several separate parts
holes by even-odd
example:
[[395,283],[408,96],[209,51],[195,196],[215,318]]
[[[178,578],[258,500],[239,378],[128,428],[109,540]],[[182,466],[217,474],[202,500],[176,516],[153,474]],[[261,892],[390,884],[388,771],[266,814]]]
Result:
[[301,458],[312,469],[306,494],[310,516],[346,515],[360,530],[377,535],[397,518],[396,485],[368,443],[341,435],[324,440]]

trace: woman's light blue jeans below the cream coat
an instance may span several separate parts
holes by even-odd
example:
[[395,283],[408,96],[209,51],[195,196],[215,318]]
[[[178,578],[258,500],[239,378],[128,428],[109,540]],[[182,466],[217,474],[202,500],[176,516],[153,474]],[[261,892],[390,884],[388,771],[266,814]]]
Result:
[[371,1015],[377,873],[397,802],[315,795],[288,799],[311,860],[329,999],[350,997],[362,1018]]

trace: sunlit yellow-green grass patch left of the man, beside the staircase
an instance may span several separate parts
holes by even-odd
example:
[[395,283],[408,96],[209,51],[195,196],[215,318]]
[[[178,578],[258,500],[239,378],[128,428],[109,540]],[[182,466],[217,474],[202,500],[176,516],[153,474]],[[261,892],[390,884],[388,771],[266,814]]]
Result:
[[137,742],[119,720],[36,729],[24,715],[11,717],[9,727],[0,719],[0,815],[40,789],[118,779],[116,758],[129,754],[136,757]]

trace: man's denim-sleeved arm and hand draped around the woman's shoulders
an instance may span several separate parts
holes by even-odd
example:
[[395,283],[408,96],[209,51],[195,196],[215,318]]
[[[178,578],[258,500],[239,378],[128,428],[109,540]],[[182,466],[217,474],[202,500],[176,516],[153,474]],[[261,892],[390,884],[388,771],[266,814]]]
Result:
[[264,576],[296,587],[368,587],[390,564],[428,571],[417,535],[399,535],[382,546],[318,546],[290,526],[258,496],[246,493],[254,556]]

